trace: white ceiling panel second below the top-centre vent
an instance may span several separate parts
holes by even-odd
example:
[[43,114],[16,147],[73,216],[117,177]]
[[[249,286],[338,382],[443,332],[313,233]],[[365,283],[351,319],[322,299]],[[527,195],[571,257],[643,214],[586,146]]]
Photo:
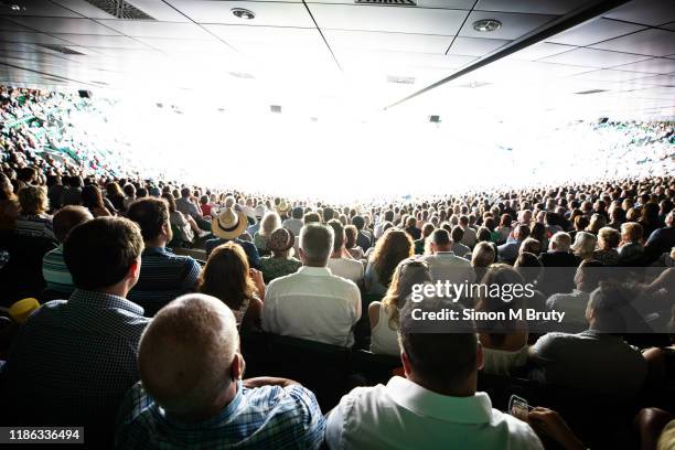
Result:
[[395,52],[446,53],[452,36],[374,31],[323,30],[331,47],[385,50]]

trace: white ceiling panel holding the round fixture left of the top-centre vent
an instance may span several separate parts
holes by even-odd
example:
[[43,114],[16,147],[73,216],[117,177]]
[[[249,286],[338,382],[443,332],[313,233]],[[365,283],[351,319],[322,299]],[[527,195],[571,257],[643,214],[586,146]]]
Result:
[[[232,25],[268,25],[312,28],[314,23],[302,3],[277,3],[270,1],[204,1],[171,0],[179,11],[200,23],[225,23]],[[244,20],[232,13],[233,8],[245,8],[256,14],[254,20]]]

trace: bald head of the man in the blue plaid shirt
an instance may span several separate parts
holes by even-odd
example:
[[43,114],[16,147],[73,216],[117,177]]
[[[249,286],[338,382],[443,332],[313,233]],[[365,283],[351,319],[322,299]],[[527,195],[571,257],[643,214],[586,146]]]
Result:
[[239,364],[235,318],[222,301],[191,293],[160,310],[143,332],[138,365],[146,390],[168,413],[199,416],[232,387]]

